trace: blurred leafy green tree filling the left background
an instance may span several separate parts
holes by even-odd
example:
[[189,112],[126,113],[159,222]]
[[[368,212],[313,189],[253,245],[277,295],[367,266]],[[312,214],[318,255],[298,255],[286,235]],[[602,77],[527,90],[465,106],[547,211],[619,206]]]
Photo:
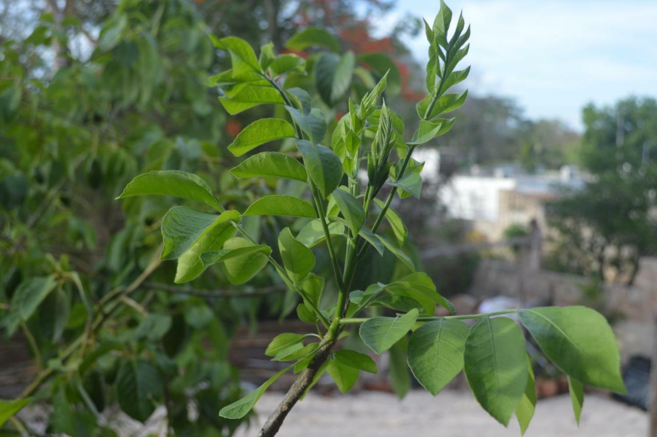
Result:
[[[246,191],[227,172],[237,160],[220,150],[258,110],[271,108],[227,116],[217,101],[220,90],[208,77],[228,60],[215,56],[208,38],[207,3],[26,0],[18,14],[26,21],[12,28],[1,21],[14,16],[11,3],[2,3],[0,329],[28,340],[38,373],[22,395],[52,403],[47,432],[100,432],[95,416],[118,403],[139,421],[164,405],[175,435],[231,434],[239,421],[216,414],[240,394],[227,362],[229,336],[244,319],[282,317],[296,307],[293,293],[243,289],[236,298],[221,289],[225,273],[215,267],[192,287],[162,287],[175,275],[159,260],[168,199],[114,201],[135,174],[169,169],[200,175],[240,210],[250,196],[294,193],[271,180]],[[228,8],[208,15],[219,16],[217,28],[244,26],[267,38],[252,18],[269,2],[256,2],[260,9],[249,14],[248,2],[212,3]],[[304,53],[308,70],[296,79],[309,79],[300,82],[309,90],[313,59],[325,55]],[[375,61],[394,66],[379,53],[367,56],[373,60],[357,60],[346,92],[358,95],[384,74]],[[266,240],[280,223],[242,224]],[[267,275],[254,283],[280,290],[270,285]],[[193,420],[191,403],[199,413]]]

